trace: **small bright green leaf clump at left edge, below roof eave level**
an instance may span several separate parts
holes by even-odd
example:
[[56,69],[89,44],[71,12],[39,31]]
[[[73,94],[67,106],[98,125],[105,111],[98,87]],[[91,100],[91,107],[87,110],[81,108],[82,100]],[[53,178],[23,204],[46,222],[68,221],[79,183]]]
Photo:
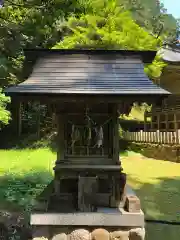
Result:
[[1,124],[8,124],[10,119],[10,113],[6,110],[7,104],[10,102],[10,98],[6,97],[0,89],[0,128]]

